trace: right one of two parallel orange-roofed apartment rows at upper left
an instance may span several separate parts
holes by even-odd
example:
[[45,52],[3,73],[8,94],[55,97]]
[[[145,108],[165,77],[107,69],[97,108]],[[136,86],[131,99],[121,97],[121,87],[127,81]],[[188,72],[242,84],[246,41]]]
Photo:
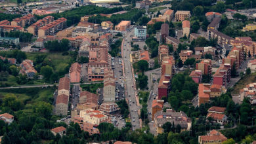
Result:
[[58,20],[54,20],[46,26],[40,27],[40,29],[38,29],[38,36],[45,37],[46,35],[54,35],[54,33],[66,27],[66,21],[66,18],[58,18]]

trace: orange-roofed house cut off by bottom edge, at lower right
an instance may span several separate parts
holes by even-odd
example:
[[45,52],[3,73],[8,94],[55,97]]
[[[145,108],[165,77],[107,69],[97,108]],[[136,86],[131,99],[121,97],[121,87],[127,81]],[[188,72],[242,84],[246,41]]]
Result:
[[223,141],[226,141],[225,135],[221,134],[221,132],[217,132],[216,130],[212,130],[207,135],[198,136],[198,143],[200,144],[221,144]]

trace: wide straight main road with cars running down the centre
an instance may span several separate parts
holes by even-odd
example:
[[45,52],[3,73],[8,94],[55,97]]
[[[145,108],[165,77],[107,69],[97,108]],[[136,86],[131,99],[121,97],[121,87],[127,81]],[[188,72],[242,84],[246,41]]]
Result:
[[132,73],[132,63],[130,61],[130,54],[131,54],[131,40],[134,34],[134,29],[131,31],[127,31],[125,36],[123,37],[124,41],[122,44],[123,48],[123,63],[124,63],[124,70],[125,70],[125,84],[126,84],[126,98],[128,100],[129,111],[131,116],[131,124],[133,130],[140,128],[140,118],[138,115],[138,110],[140,106],[137,105],[137,98],[135,90],[135,83],[133,81],[134,75]]

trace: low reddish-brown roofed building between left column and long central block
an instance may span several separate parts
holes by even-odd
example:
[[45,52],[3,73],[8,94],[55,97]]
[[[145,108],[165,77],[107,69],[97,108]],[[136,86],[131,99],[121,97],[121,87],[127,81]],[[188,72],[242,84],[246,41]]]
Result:
[[98,95],[88,91],[80,92],[79,103],[95,103],[98,104]]

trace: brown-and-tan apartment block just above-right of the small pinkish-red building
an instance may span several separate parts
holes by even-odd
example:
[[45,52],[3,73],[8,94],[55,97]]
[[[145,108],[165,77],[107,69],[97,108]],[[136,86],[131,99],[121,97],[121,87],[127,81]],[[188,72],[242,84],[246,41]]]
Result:
[[196,63],[196,69],[202,71],[202,75],[211,75],[211,60],[204,59],[200,63]]

